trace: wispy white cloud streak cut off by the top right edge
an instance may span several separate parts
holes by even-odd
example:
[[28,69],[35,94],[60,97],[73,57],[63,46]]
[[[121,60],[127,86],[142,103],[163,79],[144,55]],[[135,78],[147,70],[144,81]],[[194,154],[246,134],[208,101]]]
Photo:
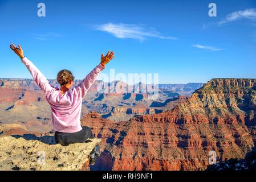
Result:
[[218,25],[234,22],[240,19],[256,20],[256,9],[246,9],[243,11],[235,11],[231,14],[226,15],[226,18],[218,22]]

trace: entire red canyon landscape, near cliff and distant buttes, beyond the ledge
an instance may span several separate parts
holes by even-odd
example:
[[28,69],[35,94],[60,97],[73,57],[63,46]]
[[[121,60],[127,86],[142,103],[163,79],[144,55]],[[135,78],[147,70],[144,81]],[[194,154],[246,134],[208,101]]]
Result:
[[[27,80],[1,80],[0,85],[2,136],[53,133],[50,111],[36,86]],[[193,93],[185,87],[178,93],[159,85],[159,99],[149,101],[140,93],[100,95],[92,86],[83,103],[82,125],[101,139],[102,154],[91,170],[204,170],[210,151],[222,163],[244,159],[254,150],[256,79],[214,78],[189,85]],[[128,107],[121,105],[127,97]]]

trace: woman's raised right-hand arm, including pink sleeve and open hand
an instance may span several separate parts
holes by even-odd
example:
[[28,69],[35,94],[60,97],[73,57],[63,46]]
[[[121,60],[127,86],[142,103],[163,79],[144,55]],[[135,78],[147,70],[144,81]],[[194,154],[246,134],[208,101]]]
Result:
[[92,86],[92,84],[94,84],[97,76],[99,75],[99,73],[105,68],[105,65],[108,64],[109,61],[111,61],[114,58],[114,52],[112,51],[108,51],[107,55],[103,55],[103,53],[101,54],[101,62],[100,64],[98,64],[87,76],[86,78],[84,78],[84,80],[82,82],[80,82],[78,84],[78,86],[76,86],[75,92],[78,94],[78,97],[84,97],[86,96],[86,93],[88,92],[88,90],[90,89],[90,87]]

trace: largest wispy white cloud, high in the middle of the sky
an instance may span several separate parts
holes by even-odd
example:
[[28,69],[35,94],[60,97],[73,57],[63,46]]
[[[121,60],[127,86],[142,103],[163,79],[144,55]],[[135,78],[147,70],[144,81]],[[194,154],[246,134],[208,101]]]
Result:
[[143,25],[138,24],[123,24],[123,23],[106,23],[95,27],[96,30],[105,31],[112,34],[116,38],[124,39],[138,39],[143,41],[147,38],[171,39],[177,38],[172,36],[162,36],[153,28],[145,28]]

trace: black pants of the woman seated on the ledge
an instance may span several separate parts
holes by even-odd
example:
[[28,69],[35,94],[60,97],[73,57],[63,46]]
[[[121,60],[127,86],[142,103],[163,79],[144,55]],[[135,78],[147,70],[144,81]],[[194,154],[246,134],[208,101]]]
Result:
[[63,146],[68,146],[71,143],[84,143],[89,138],[94,138],[90,127],[82,126],[82,130],[75,133],[62,133],[55,132],[55,142],[60,143]]

